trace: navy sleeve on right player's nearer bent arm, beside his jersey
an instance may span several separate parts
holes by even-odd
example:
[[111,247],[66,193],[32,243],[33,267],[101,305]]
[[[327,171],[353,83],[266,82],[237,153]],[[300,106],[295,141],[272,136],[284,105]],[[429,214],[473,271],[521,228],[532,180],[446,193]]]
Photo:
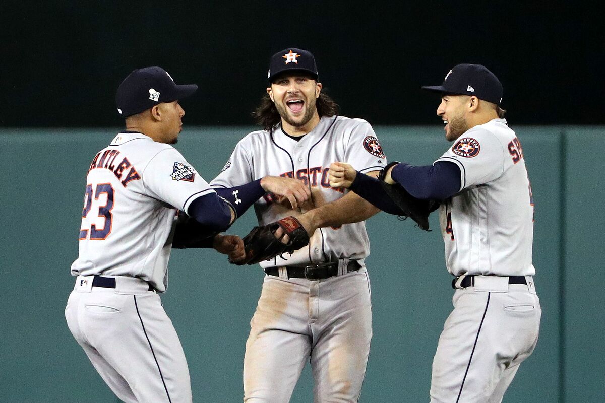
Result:
[[454,163],[437,161],[434,165],[397,164],[391,178],[418,199],[447,199],[460,191],[460,169]]

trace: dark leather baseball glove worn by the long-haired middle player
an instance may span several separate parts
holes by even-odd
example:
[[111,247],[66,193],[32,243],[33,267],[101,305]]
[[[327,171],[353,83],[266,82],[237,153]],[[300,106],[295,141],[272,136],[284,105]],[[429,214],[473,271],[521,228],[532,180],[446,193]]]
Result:
[[[275,236],[275,231],[280,228],[290,239],[283,243],[281,238]],[[294,251],[309,245],[309,234],[302,227],[298,219],[289,216],[280,221],[263,225],[263,227],[254,227],[249,234],[244,237],[244,249],[246,250],[246,259],[238,264],[254,265],[263,260],[272,259],[275,256],[283,257],[284,253],[292,254]]]

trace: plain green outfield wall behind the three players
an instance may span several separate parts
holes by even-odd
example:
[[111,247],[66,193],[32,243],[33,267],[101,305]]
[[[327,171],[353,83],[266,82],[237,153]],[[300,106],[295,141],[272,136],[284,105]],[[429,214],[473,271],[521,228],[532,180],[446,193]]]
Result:
[[[206,179],[247,127],[188,128],[178,149]],[[438,127],[375,127],[390,160],[432,163]],[[535,198],[540,341],[504,402],[603,402],[604,127],[514,127]],[[85,174],[118,129],[0,131],[0,401],[115,402],[65,324]],[[232,232],[243,235],[253,214]],[[438,228],[436,215],[431,226]],[[361,402],[426,402],[431,360],[451,309],[439,231],[381,213],[367,222],[374,337]],[[240,402],[249,320],[263,274],[209,250],[174,251],[166,311],[188,357],[194,401]],[[280,382],[279,379],[275,380]],[[310,402],[307,368],[293,403]]]

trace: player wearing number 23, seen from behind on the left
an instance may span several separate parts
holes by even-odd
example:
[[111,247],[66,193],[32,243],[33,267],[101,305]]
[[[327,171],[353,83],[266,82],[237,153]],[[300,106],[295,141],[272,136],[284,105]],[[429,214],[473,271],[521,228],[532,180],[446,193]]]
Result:
[[176,85],[159,67],[132,71],[116,95],[126,131],[88,169],[79,257],[71,265],[77,279],[65,317],[126,403],[192,399],[185,355],[159,297],[173,243],[214,247],[234,261],[244,257],[239,237],[217,234],[235,212],[170,145],[185,115],[178,100],[196,89]]

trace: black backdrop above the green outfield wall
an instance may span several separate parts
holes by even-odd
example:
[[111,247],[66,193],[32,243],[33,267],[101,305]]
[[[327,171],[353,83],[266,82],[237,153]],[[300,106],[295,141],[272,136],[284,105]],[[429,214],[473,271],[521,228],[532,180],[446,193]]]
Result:
[[502,81],[514,124],[602,124],[601,11],[578,2],[3,1],[0,126],[121,124],[114,94],[134,68],[197,83],[186,124],[251,124],[271,54],[312,51],[342,114],[437,123],[421,85],[457,63]]

